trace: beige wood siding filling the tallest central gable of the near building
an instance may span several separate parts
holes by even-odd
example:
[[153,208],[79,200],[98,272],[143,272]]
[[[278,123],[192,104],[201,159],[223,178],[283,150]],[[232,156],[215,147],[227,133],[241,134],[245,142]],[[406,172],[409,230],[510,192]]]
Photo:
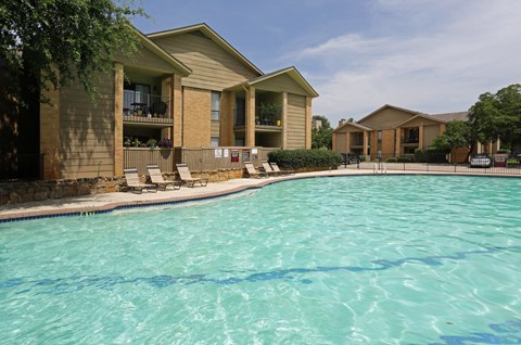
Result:
[[183,86],[220,91],[258,76],[209,38],[181,34],[154,41],[192,69]]

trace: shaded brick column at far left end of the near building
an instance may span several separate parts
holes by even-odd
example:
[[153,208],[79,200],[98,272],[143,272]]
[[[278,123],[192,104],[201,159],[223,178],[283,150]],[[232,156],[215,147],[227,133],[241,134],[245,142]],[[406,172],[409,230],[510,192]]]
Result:
[[60,91],[51,86],[47,97],[50,102],[40,104],[40,153],[43,154],[43,179],[51,180],[62,177],[60,169]]

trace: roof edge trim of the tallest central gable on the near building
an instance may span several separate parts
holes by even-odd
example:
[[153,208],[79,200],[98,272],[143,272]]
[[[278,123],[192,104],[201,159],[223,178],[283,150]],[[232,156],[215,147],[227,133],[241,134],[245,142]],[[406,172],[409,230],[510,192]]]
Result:
[[244,58],[243,54],[241,54],[236,48],[233,48],[223,37],[220,37],[216,31],[214,31],[214,29],[212,29],[206,23],[194,24],[194,25],[185,26],[176,29],[164,30],[164,31],[151,33],[151,34],[148,34],[147,37],[149,37],[150,39],[154,39],[154,38],[162,38],[162,37],[194,33],[194,31],[203,33],[204,36],[206,36],[212,41],[214,41],[217,46],[219,46],[225,51],[230,53],[234,59],[240,61],[249,69],[259,75],[264,75],[264,73],[260,69],[258,69],[257,66],[255,66],[250,60]]

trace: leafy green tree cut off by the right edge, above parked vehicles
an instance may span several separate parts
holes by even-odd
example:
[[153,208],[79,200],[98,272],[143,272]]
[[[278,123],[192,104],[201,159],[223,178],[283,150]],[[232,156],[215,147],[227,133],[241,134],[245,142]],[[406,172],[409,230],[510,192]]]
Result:
[[496,93],[483,93],[471,106],[469,124],[476,140],[484,143],[501,140],[511,150],[521,146],[521,85],[514,84]]

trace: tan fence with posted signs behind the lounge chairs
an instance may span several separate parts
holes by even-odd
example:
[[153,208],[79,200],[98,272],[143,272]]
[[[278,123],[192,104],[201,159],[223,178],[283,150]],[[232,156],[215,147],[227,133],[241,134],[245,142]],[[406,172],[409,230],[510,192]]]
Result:
[[268,159],[268,153],[276,148],[175,148],[147,149],[125,148],[125,168],[136,167],[139,174],[147,174],[147,165],[157,164],[162,171],[175,171],[176,163],[186,163],[192,171],[242,169],[244,162],[260,166]]

